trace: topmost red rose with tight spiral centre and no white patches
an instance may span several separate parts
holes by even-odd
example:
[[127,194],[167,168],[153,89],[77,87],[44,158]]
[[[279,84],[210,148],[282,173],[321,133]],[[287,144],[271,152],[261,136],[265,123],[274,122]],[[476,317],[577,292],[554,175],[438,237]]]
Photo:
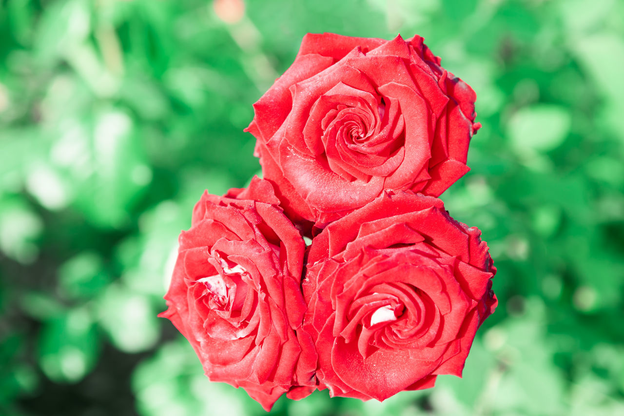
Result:
[[254,104],[247,131],[295,222],[322,229],[384,189],[437,197],[469,171],[475,93],[422,41],[307,34]]

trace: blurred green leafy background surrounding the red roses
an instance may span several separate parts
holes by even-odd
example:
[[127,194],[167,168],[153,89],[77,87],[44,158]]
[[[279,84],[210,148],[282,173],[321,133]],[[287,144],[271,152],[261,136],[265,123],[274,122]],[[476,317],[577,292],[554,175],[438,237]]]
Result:
[[259,171],[251,104],[306,32],[420,34],[477,92],[497,312],[464,379],[274,414],[624,414],[624,2],[0,2],[0,415],[262,415],[156,315],[204,189]]

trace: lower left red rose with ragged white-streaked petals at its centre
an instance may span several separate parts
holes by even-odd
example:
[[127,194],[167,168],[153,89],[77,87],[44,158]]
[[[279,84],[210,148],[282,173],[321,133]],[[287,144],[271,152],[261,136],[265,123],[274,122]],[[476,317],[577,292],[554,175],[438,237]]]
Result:
[[[257,177],[225,196],[205,192],[180,234],[167,317],[213,381],[243,387],[270,410],[281,394],[310,384],[314,346],[296,329],[306,305],[300,280],[305,244]],[[301,349],[313,361],[305,368]],[[311,353],[310,353],[311,352]]]

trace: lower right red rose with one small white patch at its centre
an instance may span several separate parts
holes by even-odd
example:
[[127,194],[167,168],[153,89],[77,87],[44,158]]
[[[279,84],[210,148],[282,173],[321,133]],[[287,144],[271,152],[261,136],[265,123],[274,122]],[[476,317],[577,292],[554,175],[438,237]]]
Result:
[[442,201],[387,192],[312,242],[304,330],[319,389],[384,400],[461,377],[475,332],[497,305],[480,231]]

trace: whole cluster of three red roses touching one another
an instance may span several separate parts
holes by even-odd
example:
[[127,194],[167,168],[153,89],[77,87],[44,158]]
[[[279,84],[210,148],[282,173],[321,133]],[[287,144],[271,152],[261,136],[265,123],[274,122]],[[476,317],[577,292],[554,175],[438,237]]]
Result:
[[308,34],[254,104],[264,179],[203,194],[162,314],[211,380],[270,410],[461,376],[495,267],[437,199],[479,128],[474,91],[440,64],[419,36]]

